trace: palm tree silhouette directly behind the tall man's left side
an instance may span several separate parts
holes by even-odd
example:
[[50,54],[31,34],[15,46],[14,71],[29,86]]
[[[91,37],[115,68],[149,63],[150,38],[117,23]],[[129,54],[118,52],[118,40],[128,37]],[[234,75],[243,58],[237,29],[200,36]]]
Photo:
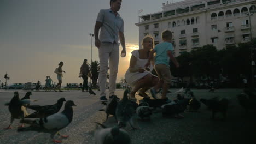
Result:
[[97,80],[98,80],[98,73],[100,71],[100,63],[98,63],[98,61],[92,61],[90,66],[90,70],[91,70],[91,80],[92,80],[92,86],[93,88],[97,88]]

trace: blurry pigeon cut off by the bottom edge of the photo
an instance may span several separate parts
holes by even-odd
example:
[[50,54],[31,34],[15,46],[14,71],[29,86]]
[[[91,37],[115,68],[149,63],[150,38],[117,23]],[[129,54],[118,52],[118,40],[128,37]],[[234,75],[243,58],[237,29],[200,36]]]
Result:
[[131,143],[131,137],[124,129],[120,129],[117,126],[106,128],[103,124],[97,124],[102,128],[95,131],[94,136],[96,144]]

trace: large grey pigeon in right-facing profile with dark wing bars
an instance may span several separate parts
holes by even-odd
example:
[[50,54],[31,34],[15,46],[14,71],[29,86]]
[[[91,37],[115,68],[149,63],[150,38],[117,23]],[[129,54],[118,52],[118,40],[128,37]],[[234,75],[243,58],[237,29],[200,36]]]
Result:
[[23,131],[38,131],[43,133],[50,133],[51,139],[53,139],[53,142],[55,143],[61,143],[60,140],[55,140],[54,135],[59,134],[62,137],[67,138],[68,136],[61,135],[60,130],[67,127],[69,123],[72,122],[73,118],[73,109],[72,106],[76,106],[74,104],[74,101],[68,100],[65,104],[65,108],[61,113],[55,113],[53,115],[50,115],[48,117],[39,118],[36,120],[21,120],[21,123],[27,123],[30,124],[29,127],[26,128],[19,128],[17,129],[18,132]]

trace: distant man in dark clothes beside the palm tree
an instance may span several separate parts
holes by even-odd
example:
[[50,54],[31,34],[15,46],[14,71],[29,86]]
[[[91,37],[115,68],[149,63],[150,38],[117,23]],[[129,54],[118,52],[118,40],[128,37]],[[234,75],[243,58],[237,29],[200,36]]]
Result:
[[83,78],[84,82],[83,82],[83,87],[82,87],[82,92],[84,92],[84,89],[86,89],[86,92],[88,92],[88,74],[90,73],[90,69],[89,66],[87,64],[87,59],[84,59],[84,63],[81,65],[80,68],[80,73],[79,73],[79,77]]

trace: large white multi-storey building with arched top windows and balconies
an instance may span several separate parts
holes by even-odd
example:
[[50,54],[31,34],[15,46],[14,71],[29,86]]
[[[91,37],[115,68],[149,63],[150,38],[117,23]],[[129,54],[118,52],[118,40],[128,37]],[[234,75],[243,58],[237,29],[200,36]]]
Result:
[[139,42],[151,34],[161,43],[161,32],[170,29],[176,56],[206,44],[223,49],[246,43],[256,37],[255,5],[256,0],[167,1],[161,12],[139,16]]

